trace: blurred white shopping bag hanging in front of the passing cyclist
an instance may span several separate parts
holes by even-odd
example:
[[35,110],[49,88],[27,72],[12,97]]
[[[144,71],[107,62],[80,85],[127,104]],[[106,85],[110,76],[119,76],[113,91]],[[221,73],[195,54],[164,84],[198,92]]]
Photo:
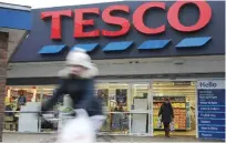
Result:
[[56,143],[95,143],[95,132],[86,111],[75,112],[76,118],[65,123]]

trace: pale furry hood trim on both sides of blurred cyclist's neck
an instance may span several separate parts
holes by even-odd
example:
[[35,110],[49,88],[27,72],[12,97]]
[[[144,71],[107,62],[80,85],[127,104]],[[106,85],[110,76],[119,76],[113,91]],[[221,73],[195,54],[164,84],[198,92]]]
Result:
[[[63,70],[59,71],[58,76],[59,78],[63,78],[66,79],[69,78],[71,74],[71,69],[70,67],[64,68]],[[99,70],[95,67],[95,64],[92,64],[92,67],[90,69],[88,69],[82,75],[81,78],[84,79],[92,79],[94,76],[99,75]]]

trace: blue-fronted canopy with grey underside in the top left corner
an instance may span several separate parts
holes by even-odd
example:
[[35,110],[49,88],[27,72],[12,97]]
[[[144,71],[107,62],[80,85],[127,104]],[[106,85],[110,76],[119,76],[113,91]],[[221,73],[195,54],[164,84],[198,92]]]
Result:
[[9,34],[8,60],[32,27],[31,7],[0,2],[0,32]]

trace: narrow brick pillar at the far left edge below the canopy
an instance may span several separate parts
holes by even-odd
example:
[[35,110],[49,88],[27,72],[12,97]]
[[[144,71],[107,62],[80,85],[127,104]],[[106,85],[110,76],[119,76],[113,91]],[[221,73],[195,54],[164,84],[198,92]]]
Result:
[[0,32],[0,142],[2,142],[4,96],[7,81],[8,33]]

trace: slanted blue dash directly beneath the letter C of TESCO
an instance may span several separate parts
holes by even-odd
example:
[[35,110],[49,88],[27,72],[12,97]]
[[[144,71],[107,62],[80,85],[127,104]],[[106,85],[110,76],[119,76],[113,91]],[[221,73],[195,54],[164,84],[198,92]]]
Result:
[[162,49],[170,43],[171,40],[148,40],[143,42],[137,49],[140,50],[151,50],[151,49]]

